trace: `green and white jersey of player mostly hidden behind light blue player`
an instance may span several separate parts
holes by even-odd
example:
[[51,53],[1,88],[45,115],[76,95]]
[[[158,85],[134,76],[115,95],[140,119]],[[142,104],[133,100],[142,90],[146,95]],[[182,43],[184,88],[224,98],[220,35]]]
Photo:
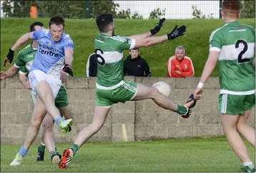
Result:
[[14,63],[14,66],[18,69],[20,74],[26,74],[29,72],[31,65],[33,64],[34,57],[36,56],[36,49],[29,44],[24,49],[19,51],[18,57]]

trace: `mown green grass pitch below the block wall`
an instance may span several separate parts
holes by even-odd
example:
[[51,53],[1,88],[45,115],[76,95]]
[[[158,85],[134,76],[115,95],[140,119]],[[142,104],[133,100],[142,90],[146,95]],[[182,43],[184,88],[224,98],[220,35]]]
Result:
[[[255,149],[246,144],[255,162]],[[70,146],[57,144],[61,154]],[[68,169],[52,165],[48,152],[44,162],[36,162],[38,145],[19,167],[10,167],[19,147],[1,145],[1,172],[242,172],[225,137],[85,144]]]

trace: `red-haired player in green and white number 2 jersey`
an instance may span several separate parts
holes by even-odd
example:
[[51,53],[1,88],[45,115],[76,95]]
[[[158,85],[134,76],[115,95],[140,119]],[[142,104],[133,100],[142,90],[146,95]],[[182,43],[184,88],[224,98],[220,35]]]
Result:
[[222,1],[222,16],[225,25],[210,36],[210,55],[194,95],[200,99],[199,92],[218,62],[223,130],[245,172],[255,172],[239,135],[255,147],[255,129],[246,123],[255,107],[255,29],[237,21],[240,1]]

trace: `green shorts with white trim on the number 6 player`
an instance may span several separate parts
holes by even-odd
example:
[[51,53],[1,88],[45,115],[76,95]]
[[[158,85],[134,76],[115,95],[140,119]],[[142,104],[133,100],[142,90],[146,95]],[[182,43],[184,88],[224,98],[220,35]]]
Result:
[[111,107],[118,102],[132,100],[137,94],[137,84],[133,81],[121,81],[117,87],[96,87],[95,104],[100,107]]

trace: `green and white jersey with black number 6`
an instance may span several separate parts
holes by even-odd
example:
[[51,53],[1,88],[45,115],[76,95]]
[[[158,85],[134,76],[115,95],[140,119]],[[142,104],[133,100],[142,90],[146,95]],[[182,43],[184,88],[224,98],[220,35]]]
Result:
[[135,40],[125,36],[99,34],[94,40],[97,55],[97,88],[114,89],[124,79],[123,51],[134,48]]

